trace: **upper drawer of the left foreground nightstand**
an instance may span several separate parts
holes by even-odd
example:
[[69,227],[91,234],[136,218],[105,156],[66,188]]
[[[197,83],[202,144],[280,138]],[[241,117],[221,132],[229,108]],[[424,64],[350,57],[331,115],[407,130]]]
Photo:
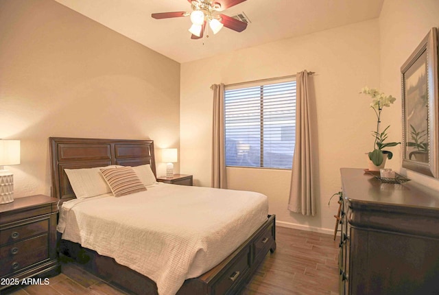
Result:
[[0,246],[49,231],[49,219],[6,228],[0,231]]

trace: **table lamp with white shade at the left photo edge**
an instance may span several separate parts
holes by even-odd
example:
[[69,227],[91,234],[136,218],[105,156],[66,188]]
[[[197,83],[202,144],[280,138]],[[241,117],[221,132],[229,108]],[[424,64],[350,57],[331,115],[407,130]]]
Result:
[[20,164],[20,141],[0,139],[0,204],[14,202],[14,175],[3,166]]

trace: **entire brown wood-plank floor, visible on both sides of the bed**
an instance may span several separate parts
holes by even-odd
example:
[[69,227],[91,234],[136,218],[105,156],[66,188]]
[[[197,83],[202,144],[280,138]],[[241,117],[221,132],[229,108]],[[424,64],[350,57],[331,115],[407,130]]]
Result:
[[[333,241],[332,235],[277,226],[276,243],[276,252],[267,255],[239,295],[338,294],[338,239]],[[29,285],[1,294],[128,294],[74,263],[62,263],[62,274],[49,281],[49,285]]]

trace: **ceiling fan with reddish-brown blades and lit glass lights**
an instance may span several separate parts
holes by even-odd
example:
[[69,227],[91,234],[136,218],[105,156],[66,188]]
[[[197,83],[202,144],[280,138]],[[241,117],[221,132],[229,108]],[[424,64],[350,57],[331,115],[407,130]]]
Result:
[[217,34],[222,27],[228,27],[236,32],[242,32],[247,27],[247,23],[233,19],[233,17],[225,14],[217,14],[227,8],[235,6],[246,0],[187,0],[191,3],[192,12],[161,12],[153,13],[154,19],[169,19],[172,17],[191,16],[192,26],[189,32],[192,33],[192,39],[200,39],[203,37],[206,24],[209,23],[213,34]]

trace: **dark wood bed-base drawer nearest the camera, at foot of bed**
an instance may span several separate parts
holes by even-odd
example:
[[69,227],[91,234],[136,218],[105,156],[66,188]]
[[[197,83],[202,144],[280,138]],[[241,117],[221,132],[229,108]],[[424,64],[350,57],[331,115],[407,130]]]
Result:
[[233,287],[239,283],[241,277],[244,277],[249,266],[249,251],[248,248],[239,254],[239,258],[235,263],[233,263],[230,268],[224,272],[219,281],[213,285],[213,294],[222,295],[222,294],[231,294],[230,291],[233,290]]

